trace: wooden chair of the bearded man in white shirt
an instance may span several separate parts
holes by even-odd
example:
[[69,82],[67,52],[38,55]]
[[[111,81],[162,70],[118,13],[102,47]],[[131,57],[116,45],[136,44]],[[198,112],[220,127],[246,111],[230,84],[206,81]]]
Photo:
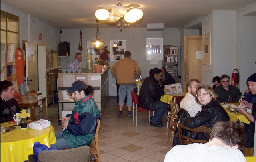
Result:
[[170,126],[168,132],[167,144],[170,142],[172,131],[175,132],[174,126],[177,126],[177,122],[174,122],[174,119],[178,119],[177,113],[180,111],[180,107],[177,103],[170,101],[170,113],[168,113],[168,118],[170,119]]

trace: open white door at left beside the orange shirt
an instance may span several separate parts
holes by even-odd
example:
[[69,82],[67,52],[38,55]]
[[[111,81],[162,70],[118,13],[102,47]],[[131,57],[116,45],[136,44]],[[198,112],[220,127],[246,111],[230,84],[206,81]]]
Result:
[[27,91],[38,91],[38,64],[36,44],[25,43],[25,46]]

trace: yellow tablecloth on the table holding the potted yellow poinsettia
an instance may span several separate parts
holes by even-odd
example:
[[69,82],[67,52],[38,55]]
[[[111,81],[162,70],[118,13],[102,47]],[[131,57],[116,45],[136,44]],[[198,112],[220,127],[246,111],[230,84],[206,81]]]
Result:
[[[1,127],[13,126],[10,122],[1,123]],[[16,126],[15,126],[16,127]],[[56,143],[52,125],[44,130],[30,128],[17,129],[1,134],[1,162],[23,162],[28,155],[33,154],[33,145],[40,142],[50,147]]]

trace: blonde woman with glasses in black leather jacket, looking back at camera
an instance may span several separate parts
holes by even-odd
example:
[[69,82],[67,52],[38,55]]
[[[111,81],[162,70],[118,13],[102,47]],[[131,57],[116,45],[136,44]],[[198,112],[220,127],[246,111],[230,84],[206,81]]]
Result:
[[[202,110],[198,111],[195,117],[180,117],[182,122],[188,128],[196,128],[198,126],[212,126],[219,121],[230,121],[228,113],[216,101],[218,95],[209,85],[200,84],[196,89],[196,102],[202,105]],[[208,140],[208,134],[195,133],[190,134],[191,138],[198,140]]]

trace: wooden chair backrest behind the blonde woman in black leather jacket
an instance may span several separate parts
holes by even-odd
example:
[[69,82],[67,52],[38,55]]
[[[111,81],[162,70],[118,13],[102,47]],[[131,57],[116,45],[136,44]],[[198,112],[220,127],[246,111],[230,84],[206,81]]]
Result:
[[210,139],[210,134],[211,134],[211,131],[212,131],[210,128],[205,127],[205,126],[198,126],[196,128],[191,129],[191,128],[188,128],[188,127],[184,126],[184,124],[182,124],[182,123],[178,123],[178,133],[179,133],[180,145],[209,142],[209,139],[208,140],[195,140],[195,139],[190,138],[188,136],[184,136],[184,135],[182,135],[182,133],[183,133],[182,130],[188,130],[190,132],[207,133],[207,134],[209,134],[209,139]]

